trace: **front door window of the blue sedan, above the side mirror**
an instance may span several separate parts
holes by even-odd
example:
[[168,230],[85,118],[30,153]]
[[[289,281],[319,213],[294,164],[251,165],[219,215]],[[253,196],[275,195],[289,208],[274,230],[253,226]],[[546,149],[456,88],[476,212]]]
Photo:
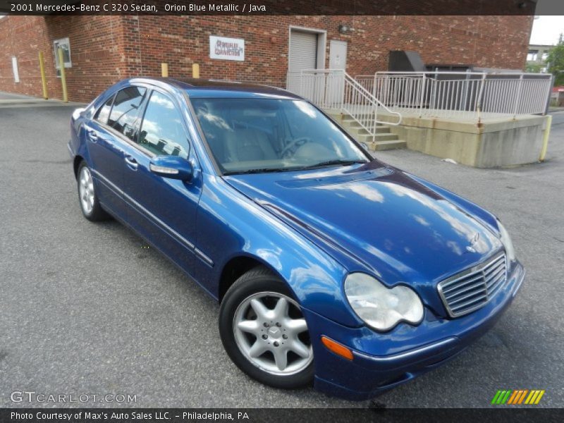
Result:
[[188,138],[182,115],[165,94],[153,91],[141,123],[139,143],[158,156],[188,158]]

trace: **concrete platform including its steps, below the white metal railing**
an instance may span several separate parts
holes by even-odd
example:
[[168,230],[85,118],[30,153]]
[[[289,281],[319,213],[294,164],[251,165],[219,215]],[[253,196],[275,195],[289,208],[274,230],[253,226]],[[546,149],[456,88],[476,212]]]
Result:
[[[467,114],[448,118],[403,115],[400,125],[381,125],[376,137],[360,132],[360,124],[340,111],[328,111],[348,132],[371,149],[412,149],[478,168],[519,166],[539,161],[546,131],[546,116],[482,114],[480,121]],[[366,116],[373,114],[367,109]],[[361,114],[362,118],[362,114]],[[379,110],[378,121],[397,117]],[[393,135],[390,136],[390,135]]]

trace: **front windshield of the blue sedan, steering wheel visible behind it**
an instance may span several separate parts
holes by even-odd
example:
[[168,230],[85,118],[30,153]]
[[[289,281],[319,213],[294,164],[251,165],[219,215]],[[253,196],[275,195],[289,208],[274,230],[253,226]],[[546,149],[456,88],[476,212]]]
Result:
[[191,99],[225,174],[366,163],[367,156],[312,104],[292,99]]

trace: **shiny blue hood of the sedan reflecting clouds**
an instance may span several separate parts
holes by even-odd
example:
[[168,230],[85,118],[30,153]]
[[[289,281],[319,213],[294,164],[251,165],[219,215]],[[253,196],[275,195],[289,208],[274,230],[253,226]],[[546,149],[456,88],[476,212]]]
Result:
[[436,283],[502,248],[482,220],[379,161],[226,180],[348,271],[369,271],[388,285],[407,283],[429,295],[433,288],[432,298]]

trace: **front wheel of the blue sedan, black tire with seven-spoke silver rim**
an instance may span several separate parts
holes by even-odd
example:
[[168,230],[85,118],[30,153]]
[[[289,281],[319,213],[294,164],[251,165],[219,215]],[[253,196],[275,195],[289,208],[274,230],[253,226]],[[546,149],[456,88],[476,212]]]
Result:
[[238,278],[219,312],[227,354],[243,372],[276,388],[312,383],[314,363],[307,324],[290,290],[262,266]]

